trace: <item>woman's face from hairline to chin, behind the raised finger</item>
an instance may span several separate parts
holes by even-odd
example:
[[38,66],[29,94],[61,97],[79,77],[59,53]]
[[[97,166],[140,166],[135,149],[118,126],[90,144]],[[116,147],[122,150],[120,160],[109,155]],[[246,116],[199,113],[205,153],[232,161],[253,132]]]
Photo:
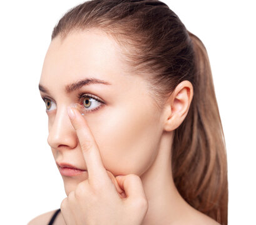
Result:
[[[148,94],[145,80],[125,72],[128,65],[121,61],[120,51],[114,39],[100,31],[72,32],[63,42],[59,36],[51,41],[39,84],[47,90],[40,88],[40,93],[48,99],[48,143],[56,162],[86,169],[66,111],[74,103],[87,111],[95,109],[85,113],[84,118],[98,144],[103,165],[114,176],[141,176],[156,158],[163,131],[160,112]],[[109,84],[71,85],[88,78]],[[66,194],[86,176],[63,176]]]

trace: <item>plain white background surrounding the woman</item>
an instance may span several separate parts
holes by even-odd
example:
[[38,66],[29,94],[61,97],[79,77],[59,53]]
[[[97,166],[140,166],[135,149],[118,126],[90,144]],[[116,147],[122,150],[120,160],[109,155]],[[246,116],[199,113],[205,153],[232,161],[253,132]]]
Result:
[[[83,1],[1,1],[0,224],[27,224],[66,197],[38,83],[51,31]],[[256,224],[253,1],[163,1],[207,47],[228,156],[229,224]]]

